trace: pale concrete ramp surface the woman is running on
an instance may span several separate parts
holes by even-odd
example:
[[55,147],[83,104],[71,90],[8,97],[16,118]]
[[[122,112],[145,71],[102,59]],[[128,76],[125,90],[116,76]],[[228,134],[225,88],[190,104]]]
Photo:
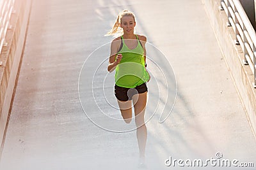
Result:
[[164,165],[170,156],[206,160],[217,152],[256,166],[255,137],[200,0],[34,0],[0,169],[137,169],[134,119],[121,120],[114,73],[106,71],[113,38],[104,34],[124,9],[147,36],[154,75],[148,169],[173,168]]

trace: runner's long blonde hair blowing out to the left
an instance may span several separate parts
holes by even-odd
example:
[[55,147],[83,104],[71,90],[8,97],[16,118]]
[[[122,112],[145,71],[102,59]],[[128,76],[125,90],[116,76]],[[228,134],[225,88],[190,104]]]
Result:
[[128,10],[123,10],[118,14],[115,24],[113,25],[112,29],[110,31],[108,31],[108,33],[105,36],[116,36],[116,34],[118,34],[118,35],[124,34],[124,31],[120,27],[120,25],[122,22],[122,18],[127,17],[127,16],[133,17],[134,22],[135,22],[134,13],[132,13],[131,11],[128,11]]

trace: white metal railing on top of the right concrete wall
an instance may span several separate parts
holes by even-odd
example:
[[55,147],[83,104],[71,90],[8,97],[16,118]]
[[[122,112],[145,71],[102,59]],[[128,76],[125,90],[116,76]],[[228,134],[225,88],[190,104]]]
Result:
[[239,0],[221,0],[221,10],[225,10],[228,17],[228,26],[232,26],[236,34],[236,44],[240,44],[244,53],[244,64],[252,69],[254,81],[253,87],[256,88],[256,33],[246,15]]

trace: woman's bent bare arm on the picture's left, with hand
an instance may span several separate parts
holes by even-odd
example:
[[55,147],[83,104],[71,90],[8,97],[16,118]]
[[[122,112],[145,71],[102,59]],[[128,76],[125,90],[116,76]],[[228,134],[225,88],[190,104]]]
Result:
[[120,60],[122,59],[122,55],[117,55],[117,49],[118,49],[118,38],[114,39],[111,43],[111,48],[110,48],[110,57],[109,57],[109,63],[108,63],[108,71],[112,72],[115,67],[120,63]]

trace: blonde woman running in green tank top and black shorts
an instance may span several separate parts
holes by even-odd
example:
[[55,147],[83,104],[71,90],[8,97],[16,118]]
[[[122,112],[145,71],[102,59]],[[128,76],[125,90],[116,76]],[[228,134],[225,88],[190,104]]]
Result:
[[140,150],[140,164],[145,166],[145,146],[147,143],[147,127],[144,115],[147,104],[147,81],[150,76],[146,70],[147,38],[134,34],[136,21],[131,11],[119,13],[111,31],[106,34],[122,34],[113,39],[109,57],[108,71],[115,73],[115,96],[124,121],[132,120],[132,105],[134,107],[136,136]]

